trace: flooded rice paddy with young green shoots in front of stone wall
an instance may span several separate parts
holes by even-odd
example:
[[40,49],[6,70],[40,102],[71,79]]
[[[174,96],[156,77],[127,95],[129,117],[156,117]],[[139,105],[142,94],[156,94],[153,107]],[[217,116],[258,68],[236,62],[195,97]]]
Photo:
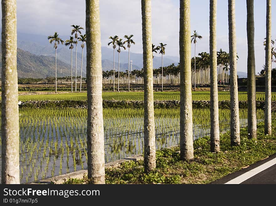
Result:
[[[141,154],[143,109],[104,108],[103,111],[105,162]],[[179,143],[179,113],[179,108],[155,109],[157,149]],[[220,131],[229,130],[230,110],[220,109],[219,115]],[[272,118],[275,117],[273,112]],[[263,118],[263,110],[257,110],[257,121],[263,121]],[[209,109],[193,109],[193,123],[194,139],[209,135]],[[19,124],[21,183],[87,169],[86,109],[20,108]],[[240,109],[240,124],[247,126],[247,109]]]

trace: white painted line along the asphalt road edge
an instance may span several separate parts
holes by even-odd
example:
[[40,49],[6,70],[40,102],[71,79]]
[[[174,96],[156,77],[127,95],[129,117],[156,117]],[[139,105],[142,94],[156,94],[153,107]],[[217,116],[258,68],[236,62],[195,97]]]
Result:
[[276,164],[276,158],[260,165],[260,166],[257,166],[256,168],[248,171],[248,172],[245,172],[244,174],[224,183],[224,184],[240,184],[241,182],[244,182],[246,181],[247,179],[249,179],[250,177],[253,177],[254,175],[258,174],[259,172],[262,172],[263,170],[273,166],[274,164]]

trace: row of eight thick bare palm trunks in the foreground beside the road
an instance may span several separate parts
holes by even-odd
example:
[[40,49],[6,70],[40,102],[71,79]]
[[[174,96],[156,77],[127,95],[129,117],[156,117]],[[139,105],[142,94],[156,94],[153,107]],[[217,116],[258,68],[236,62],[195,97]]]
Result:
[[[192,91],[191,91],[191,30],[190,0],[180,0],[179,55],[180,55],[180,159],[194,159]],[[247,99],[248,138],[257,141],[256,83],[254,56],[254,7],[247,0]],[[266,0],[266,63],[265,63],[265,134],[271,135],[271,0]],[[210,151],[220,151],[217,50],[217,0],[210,0]],[[2,1],[2,184],[20,183],[19,180],[19,109],[16,70],[16,0]],[[143,78],[144,78],[144,171],[156,168],[155,122],[153,107],[153,66],[151,40],[151,0],[141,0]],[[237,57],[235,0],[228,0],[229,66],[231,123],[230,144],[240,145],[239,106],[237,89]],[[86,0],[87,35],[87,154],[90,183],[105,183],[104,124],[102,105],[102,66],[99,0]],[[57,35],[56,35],[57,36]],[[53,40],[54,41],[54,40]],[[55,42],[55,44],[58,44]],[[56,45],[55,45],[56,48]],[[195,59],[196,60],[196,59]],[[119,75],[118,75],[119,76]]]

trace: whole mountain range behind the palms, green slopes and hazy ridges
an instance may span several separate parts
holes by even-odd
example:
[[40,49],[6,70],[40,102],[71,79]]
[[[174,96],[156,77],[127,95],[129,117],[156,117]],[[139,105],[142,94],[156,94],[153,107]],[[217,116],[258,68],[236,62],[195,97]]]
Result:
[[[55,49],[49,44],[47,36],[36,34],[24,34],[18,32],[17,35],[17,68],[18,77],[20,78],[46,78],[55,76]],[[66,36],[61,36],[62,40],[66,40]],[[86,45],[85,45],[86,46]],[[75,74],[75,58],[76,49],[72,50],[72,70]],[[102,53],[102,68],[103,71],[113,70],[114,50],[105,46],[101,47]],[[71,76],[71,50],[65,45],[59,44],[57,47],[57,76]],[[132,60],[132,70],[141,70],[143,67],[143,54],[131,52],[130,60]],[[77,76],[80,76],[82,61],[82,76],[86,75],[86,47],[83,49],[80,43],[77,45]],[[168,66],[172,63],[177,65],[179,57],[163,55],[163,66]],[[2,61],[0,60],[2,65]],[[153,58],[153,68],[161,66],[161,57]],[[120,71],[128,70],[128,50],[121,50],[120,53]],[[115,71],[118,71],[118,52],[115,49]],[[245,72],[237,72],[240,78],[247,77]]]

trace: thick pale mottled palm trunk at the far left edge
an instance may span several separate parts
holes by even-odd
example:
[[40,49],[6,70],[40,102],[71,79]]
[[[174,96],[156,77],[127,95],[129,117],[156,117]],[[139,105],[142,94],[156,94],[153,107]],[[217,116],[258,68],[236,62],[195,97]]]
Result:
[[2,184],[20,184],[16,0],[2,0]]

